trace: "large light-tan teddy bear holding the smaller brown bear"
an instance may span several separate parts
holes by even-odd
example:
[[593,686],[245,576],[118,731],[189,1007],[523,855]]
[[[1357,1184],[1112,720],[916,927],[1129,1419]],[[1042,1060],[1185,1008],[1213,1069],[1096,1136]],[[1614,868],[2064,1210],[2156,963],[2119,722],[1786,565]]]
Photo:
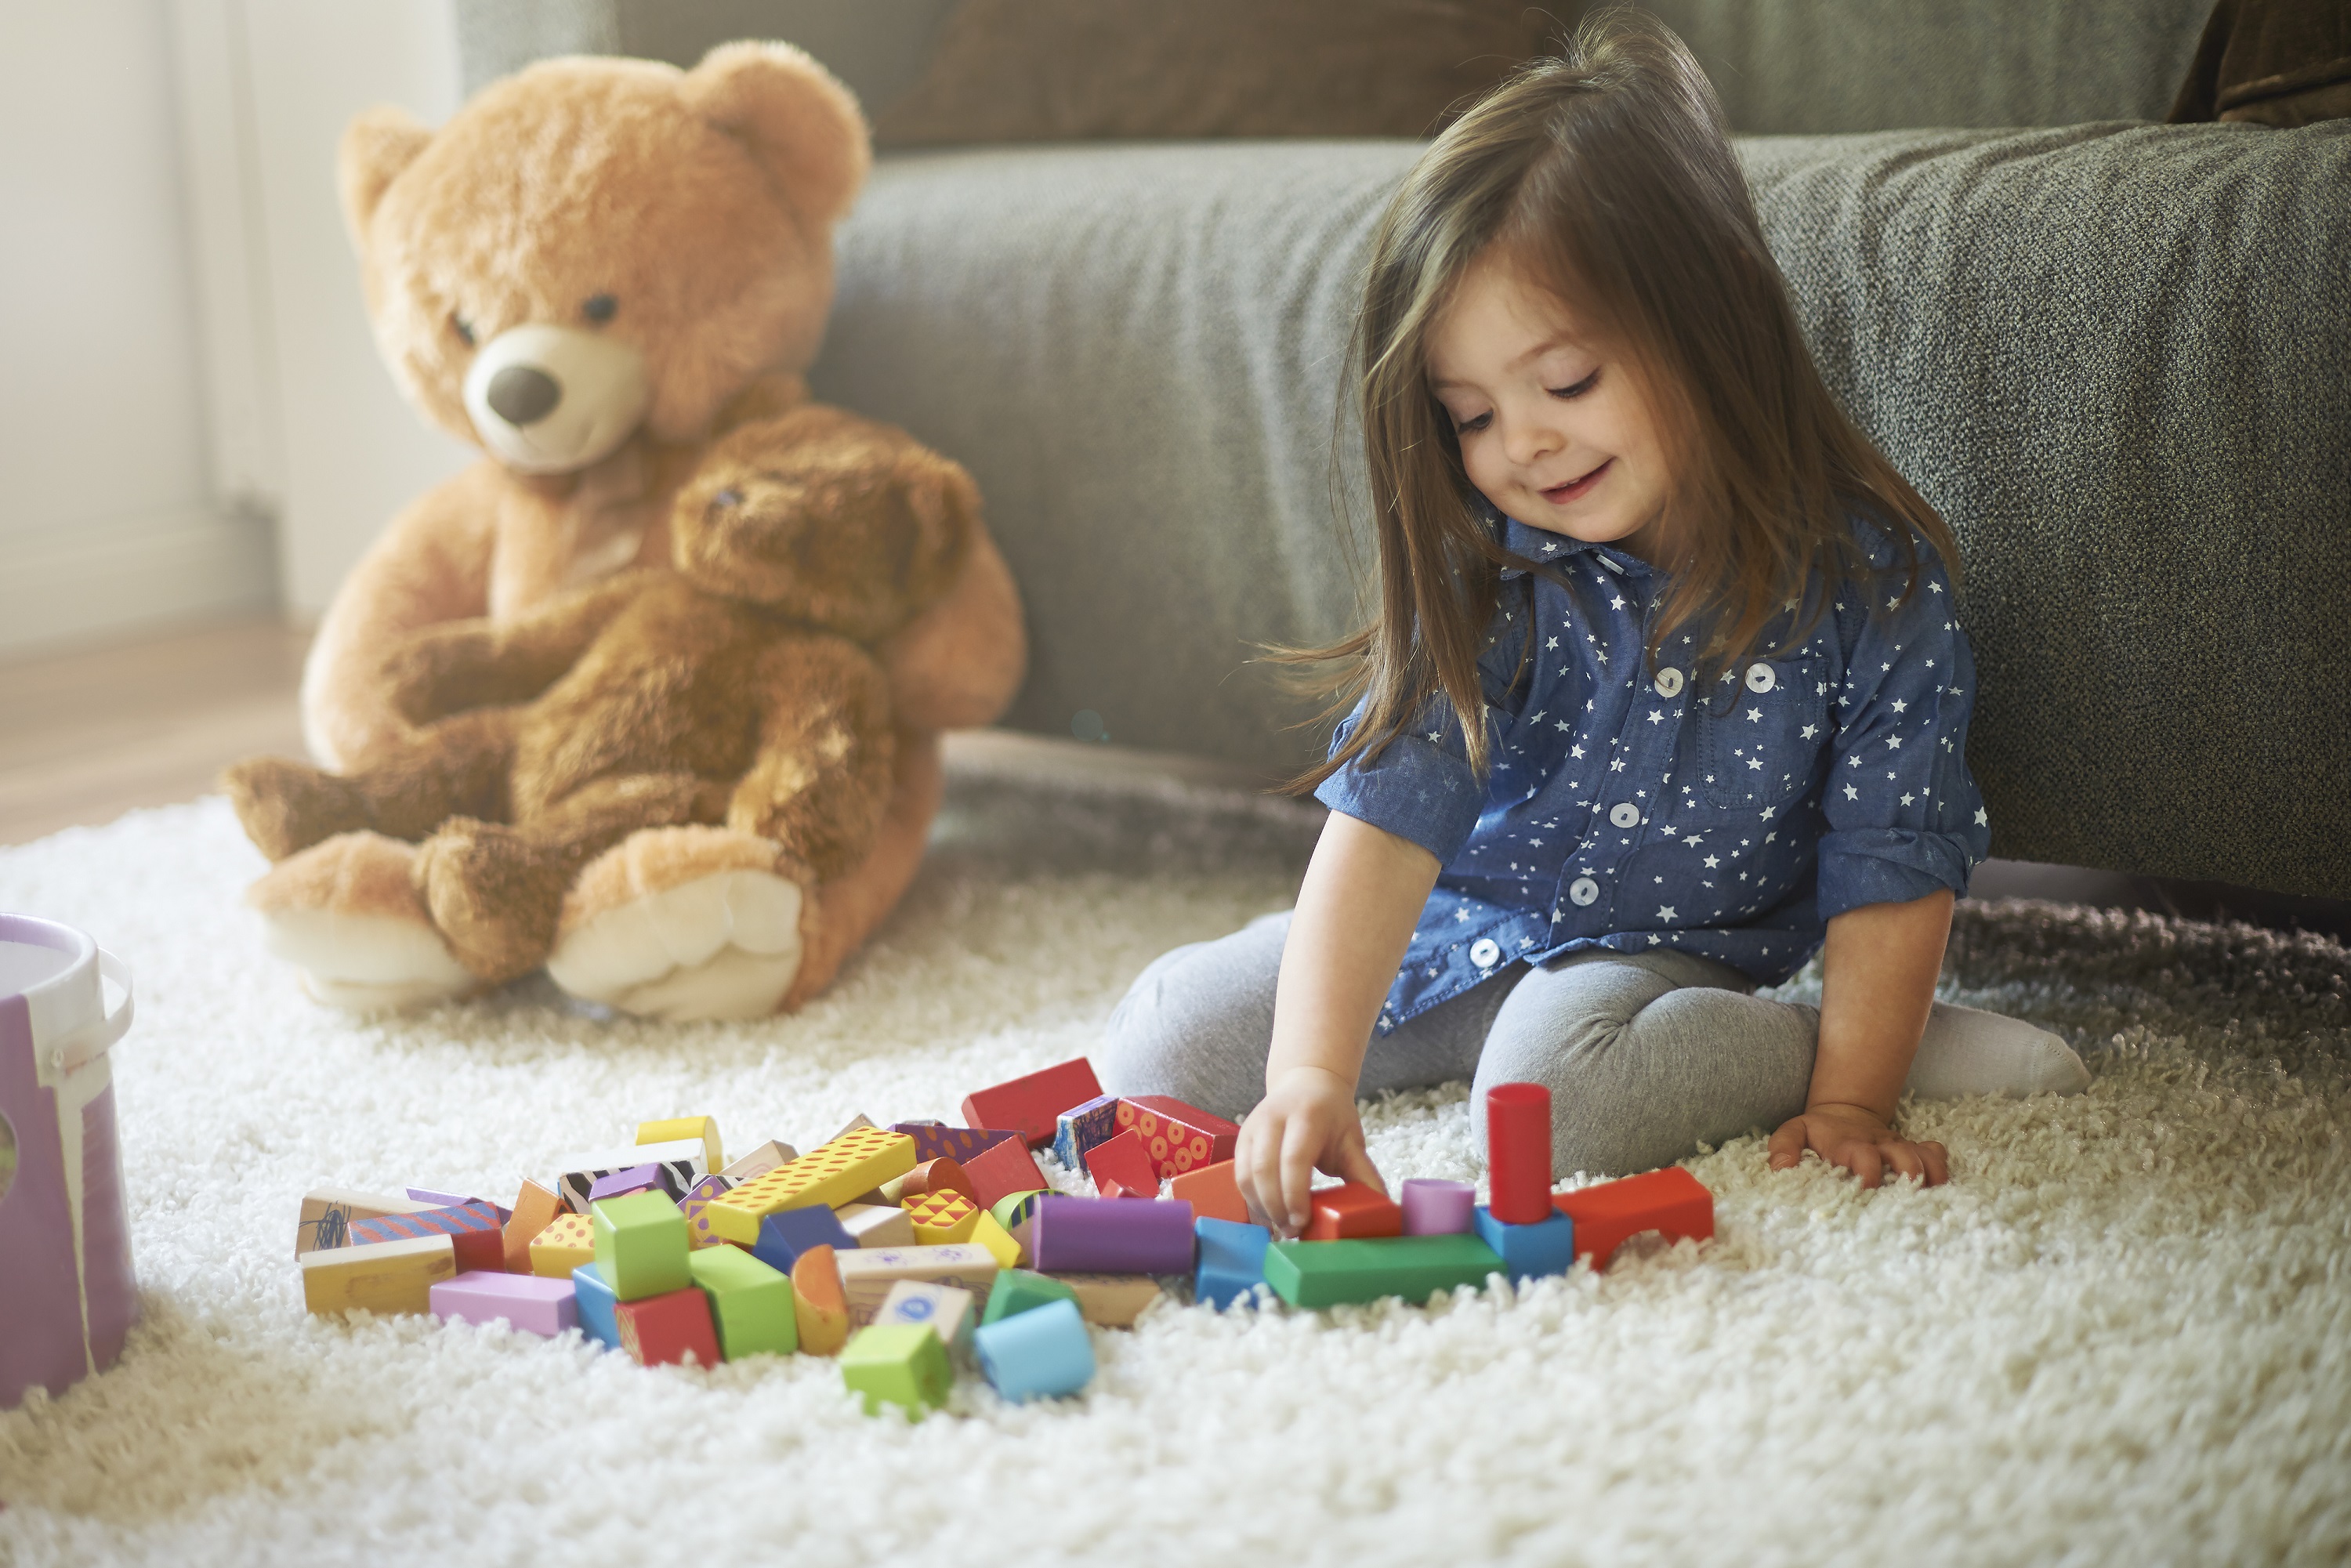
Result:
[[[418,632],[517,623],[668,569],[672,503],[719,442],[771,503],[809,510],[809,536],[891,494],[964,512],[950,578],[870,646],[889,698],[870,849],[811,867],[724,813],[628,832],[562,896],[548,973],[578,997],[668,1018],[811,997],[915,875],[938,733],[987,724],[1020,682],[1018,595],[969,480],[943,487],[945,458],[813,409],[799,378],[832,303],[832,226],[868,165],[856,101],[785,45],[726,45],[694,71],[545,61],[437,132],[374,110],[343,139],[383,355],[487,458],[402,512],[329,607],[303,672],[322,766],[367,771],[414,743],[402,682]],[[764,705],[743,693],[745,712]],[[510,961],[435,926],[428,872],[411,837],[339,832],[280,860],[249,903],[324,1001],[404,1006],[505,978]]]

